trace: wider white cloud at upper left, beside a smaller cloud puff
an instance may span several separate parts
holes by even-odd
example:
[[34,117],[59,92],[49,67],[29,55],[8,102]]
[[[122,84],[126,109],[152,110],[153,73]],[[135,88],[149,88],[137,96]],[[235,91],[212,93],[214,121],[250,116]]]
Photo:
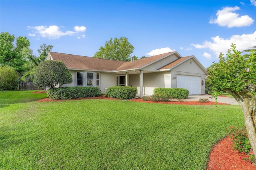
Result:
[[31,27],[28,26],[28,29],[32,29],[35,30],[36,33],[38,33],[40,36],[42,36],[43,38],[51,38],[51,39],[56,39],[56,38],[60,38],[61,36],[67,36],[67,35],[73,35],[75,34],[75,32],[72,31],[66,31],[66,32],[62,32],[60,30],[60,27],[58,26],[35,26],[35,27]]

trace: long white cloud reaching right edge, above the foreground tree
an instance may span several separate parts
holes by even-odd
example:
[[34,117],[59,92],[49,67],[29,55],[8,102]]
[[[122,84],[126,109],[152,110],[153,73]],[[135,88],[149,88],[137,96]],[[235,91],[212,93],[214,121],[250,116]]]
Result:
[[219,36],[211,39],[213,42],[205,41],[202,45],[193,43],[191,45],[200,49],[208,48],[218,57],[220,52],[226,53],[231,48],[231,43],[236,44],[236,49],[240,51],[253,47],[256,44],[256,31],[252,34],[242,34],[241,36],[233,35],[230,39],[220,38]]

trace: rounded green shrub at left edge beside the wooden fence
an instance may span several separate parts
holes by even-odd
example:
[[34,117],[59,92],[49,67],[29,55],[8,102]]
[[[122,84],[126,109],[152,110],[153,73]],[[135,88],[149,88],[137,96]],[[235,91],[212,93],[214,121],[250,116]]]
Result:
[[17,90],[19,74],[14,68],[0,67],[0,90]]

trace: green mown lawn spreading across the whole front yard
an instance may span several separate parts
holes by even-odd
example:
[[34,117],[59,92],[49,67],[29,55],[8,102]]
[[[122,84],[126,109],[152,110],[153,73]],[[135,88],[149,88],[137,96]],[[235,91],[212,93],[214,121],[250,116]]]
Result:
[[44,97],[0,92],[0,169],[203,170],[229,127],[244,126],[236,105]]

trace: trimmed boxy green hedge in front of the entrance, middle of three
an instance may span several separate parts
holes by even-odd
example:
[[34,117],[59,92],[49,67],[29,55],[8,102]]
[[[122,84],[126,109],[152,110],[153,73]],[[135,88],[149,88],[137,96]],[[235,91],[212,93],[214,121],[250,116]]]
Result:
[[133,99],[136,94],[137,88],[130,86],[113,86],[106,91],[106,96],[121,100]]

